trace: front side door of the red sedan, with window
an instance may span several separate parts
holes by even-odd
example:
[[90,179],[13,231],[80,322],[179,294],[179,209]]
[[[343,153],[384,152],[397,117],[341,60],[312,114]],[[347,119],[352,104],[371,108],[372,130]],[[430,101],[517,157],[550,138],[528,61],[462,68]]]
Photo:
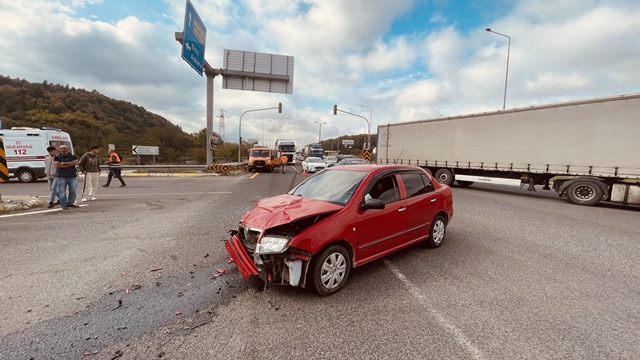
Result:
[[367,189],[362,201],[378,199],[385,207],[358,212],[358,263],[384,256],[406,241],[406,207],[396,175],[373,179]]

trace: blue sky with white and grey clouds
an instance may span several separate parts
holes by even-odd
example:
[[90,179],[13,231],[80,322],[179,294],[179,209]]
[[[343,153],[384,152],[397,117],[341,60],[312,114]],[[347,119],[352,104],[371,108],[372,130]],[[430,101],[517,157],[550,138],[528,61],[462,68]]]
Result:
[[[281,114],[242,117],[243,139],[303,146],[366,134],[367,121],[375,134],[389,123],[640,92],[637,0],[191,2],[213,68],[225,49],[294,57],[293,94],[222,89],[214,78],[213,130],[223,113],[228,142],[237,143],[243,112],[278,103]],[[198,132],[207,81],[175,40],[185,7],[0,0],[0,75],[97,90]],[[334,104],[359,116],[333,115]]]

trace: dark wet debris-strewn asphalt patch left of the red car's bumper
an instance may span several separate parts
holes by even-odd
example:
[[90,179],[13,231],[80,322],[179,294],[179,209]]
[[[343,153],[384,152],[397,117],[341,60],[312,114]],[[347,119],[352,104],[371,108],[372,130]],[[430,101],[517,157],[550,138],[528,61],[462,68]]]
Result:
[[[231,274],[217,269],[229,269]],[[0,359],[80,358],[159,328],[175,336],[188,335],[214,321],[219,306],[249,287],[233,264],[194,266],[185,275],[131,284],[105,294],[84,311],[0,337]]]

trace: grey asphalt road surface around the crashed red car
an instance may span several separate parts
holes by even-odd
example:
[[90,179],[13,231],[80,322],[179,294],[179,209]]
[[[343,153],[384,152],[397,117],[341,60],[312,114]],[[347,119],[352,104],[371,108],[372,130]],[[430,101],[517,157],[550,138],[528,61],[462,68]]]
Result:
[[454,187],[442,247],[355,269],[330,297],[258,292],[220,240],[301,179],[127,178],[80,209],[0,216],[0,358],[640,357],[638,208]]

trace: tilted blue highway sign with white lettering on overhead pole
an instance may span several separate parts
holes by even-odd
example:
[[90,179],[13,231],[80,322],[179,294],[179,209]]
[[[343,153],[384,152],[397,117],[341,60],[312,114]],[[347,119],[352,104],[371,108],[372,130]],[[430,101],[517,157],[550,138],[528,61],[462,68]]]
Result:
[[207,28],[200,15],[187,0],[184,13],[184,32],[182,40],[182,58],[202,76],[204,69],[204,45],[207,41]]

